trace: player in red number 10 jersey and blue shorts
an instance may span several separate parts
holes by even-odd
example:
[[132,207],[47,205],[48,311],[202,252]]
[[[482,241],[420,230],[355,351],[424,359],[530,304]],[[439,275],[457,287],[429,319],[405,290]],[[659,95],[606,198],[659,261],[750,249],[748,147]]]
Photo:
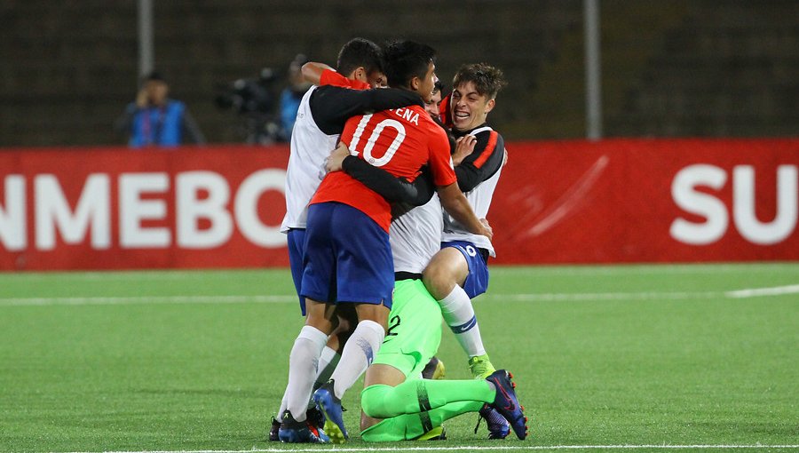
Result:
[[[447,210],[471,231],[490,236],[490,229],[480,223],[455,184],[446,133],[422,107],[435,82],[435,52],[404,41],[390,44],[384,54],[389,85],[414,91],[418,104],[356,115],[347,121],[341,141],[361,159],[410,181],[429,163]],[[354,304],[358,325],[330,381],[313,393],[331,422],[325,425],[331,440],[342,442],[348,437],[340,399],[383,342],[392,304],[390,223],[391,209],[384,198],[343,172],[328,173],[313,196],[300,285],[308,317],[289,357],[289,410],[281,434],[284,427],[292,429],[291,414],[305,407],[315,363],[334,326],[336,304]]]

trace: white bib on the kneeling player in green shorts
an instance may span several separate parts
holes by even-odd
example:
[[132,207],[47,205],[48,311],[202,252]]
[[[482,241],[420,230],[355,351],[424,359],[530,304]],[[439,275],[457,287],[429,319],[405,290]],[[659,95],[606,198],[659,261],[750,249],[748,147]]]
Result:
[[438,194],[433,194],[427,204],[392,220],[389,242],[392,244],[394,272],[422,274],[433,255],[441,250],[443,227]]

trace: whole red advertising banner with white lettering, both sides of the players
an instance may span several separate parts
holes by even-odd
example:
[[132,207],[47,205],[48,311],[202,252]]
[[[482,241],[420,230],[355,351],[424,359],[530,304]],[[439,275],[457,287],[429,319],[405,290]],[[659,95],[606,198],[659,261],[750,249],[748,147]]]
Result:
[[[497,264],[799,259],[799,139],[510,143]],[[0,270],[287,266],[287,147],[0,151]]]

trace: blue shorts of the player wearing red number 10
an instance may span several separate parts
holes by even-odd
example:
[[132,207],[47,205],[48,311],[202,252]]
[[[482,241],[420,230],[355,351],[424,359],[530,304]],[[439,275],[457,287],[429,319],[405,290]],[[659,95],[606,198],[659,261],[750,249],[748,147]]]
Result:
[[392,307],[394,264],[389,235],[342,203],[308,207],[301,296],[326,303]]

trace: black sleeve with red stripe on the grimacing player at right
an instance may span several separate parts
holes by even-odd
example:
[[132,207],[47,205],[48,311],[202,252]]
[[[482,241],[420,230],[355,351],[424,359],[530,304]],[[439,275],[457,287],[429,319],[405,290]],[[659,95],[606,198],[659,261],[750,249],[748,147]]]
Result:
[[467,155],[463,162],[455,167],[458,177],[458,187],[463,192],[469,192],[502,167],[505,142],[496,131],[481,132],[477,136],[477,143],[471,155]]

